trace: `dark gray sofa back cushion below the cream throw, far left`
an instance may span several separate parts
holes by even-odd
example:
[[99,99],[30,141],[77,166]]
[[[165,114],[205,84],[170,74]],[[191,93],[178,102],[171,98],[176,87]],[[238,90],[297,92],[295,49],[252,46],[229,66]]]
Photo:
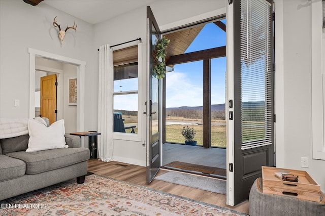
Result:
[[28,139],[28,134],[19,137],[0,139],[3,154],[8,154],[16,151],[26,151],[28,148]]

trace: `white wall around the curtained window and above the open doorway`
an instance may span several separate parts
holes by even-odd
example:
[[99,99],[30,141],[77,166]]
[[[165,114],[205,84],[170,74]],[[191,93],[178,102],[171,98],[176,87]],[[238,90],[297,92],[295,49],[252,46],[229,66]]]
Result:
[[[153,14],[157,20],[161,30],[167,28],[177,27],[181,24],[188,24],[200,19],[210,18],[220,14],[216,14],[217,9],[223,14],[225,13],[225,1],[156,1],[150,5]],[[220,12],[218,12],[220,13]],[[115,45],[121,42],[142,38],[142,74],[143,74],[143,87],[142,92],[142,109],[139,109],[140,113],[146,111],[144,106],[146,101],[146,58],[147,58],[147,9],[141,7],[127,14],[115,17],[111,20],[99,23],[94,26],[94,41],[95,49],[105,44]],[[194,17],[194,20],[193,20]],[[96,60],[98,61],[98,54],[96,54]],[[95,65],[95,70],[98,71],[98,65]],[[98,79],[98,73],[96,73],[94,79]],[[140,93],[139,93],[140,94]],[[98,98],[98,93],[95,94]],[[94,109],[96,110],[96,109]],[[97,112],[93,113],[93,117],[97,117]],[[144,122],[141,134],[141,141],[124,141],[115,139],[113,160],[133,163],[137,165],[146,165],[146,148],[143,147],[142,141],[146,139],[145,122],[146,115],[143,115],[142,122]]]

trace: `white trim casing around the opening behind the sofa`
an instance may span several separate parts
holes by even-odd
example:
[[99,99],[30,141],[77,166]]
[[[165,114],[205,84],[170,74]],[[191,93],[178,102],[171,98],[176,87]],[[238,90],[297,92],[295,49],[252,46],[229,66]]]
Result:
[[[85,67],[86,62],[53,53],[28,48],[29,53],[29,118],[35,118],[35,70],[36,57],[46,58],[77,66],[77,131],[84,131],[85,127]],[[82,141],[84,146],[84,141]]]

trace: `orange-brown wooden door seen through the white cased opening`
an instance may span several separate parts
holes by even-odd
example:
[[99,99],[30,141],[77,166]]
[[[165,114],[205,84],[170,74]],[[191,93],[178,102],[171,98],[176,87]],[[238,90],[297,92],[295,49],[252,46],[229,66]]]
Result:
[[40,116],[56,121],[56,74],[41,77]]

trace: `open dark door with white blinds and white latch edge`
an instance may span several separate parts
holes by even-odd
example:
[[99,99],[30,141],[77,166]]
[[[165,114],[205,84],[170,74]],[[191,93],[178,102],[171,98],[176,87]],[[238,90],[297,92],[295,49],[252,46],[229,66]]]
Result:
[[227,201],[248,199],[261,166],[274,166],[273,2],[226,0]]

